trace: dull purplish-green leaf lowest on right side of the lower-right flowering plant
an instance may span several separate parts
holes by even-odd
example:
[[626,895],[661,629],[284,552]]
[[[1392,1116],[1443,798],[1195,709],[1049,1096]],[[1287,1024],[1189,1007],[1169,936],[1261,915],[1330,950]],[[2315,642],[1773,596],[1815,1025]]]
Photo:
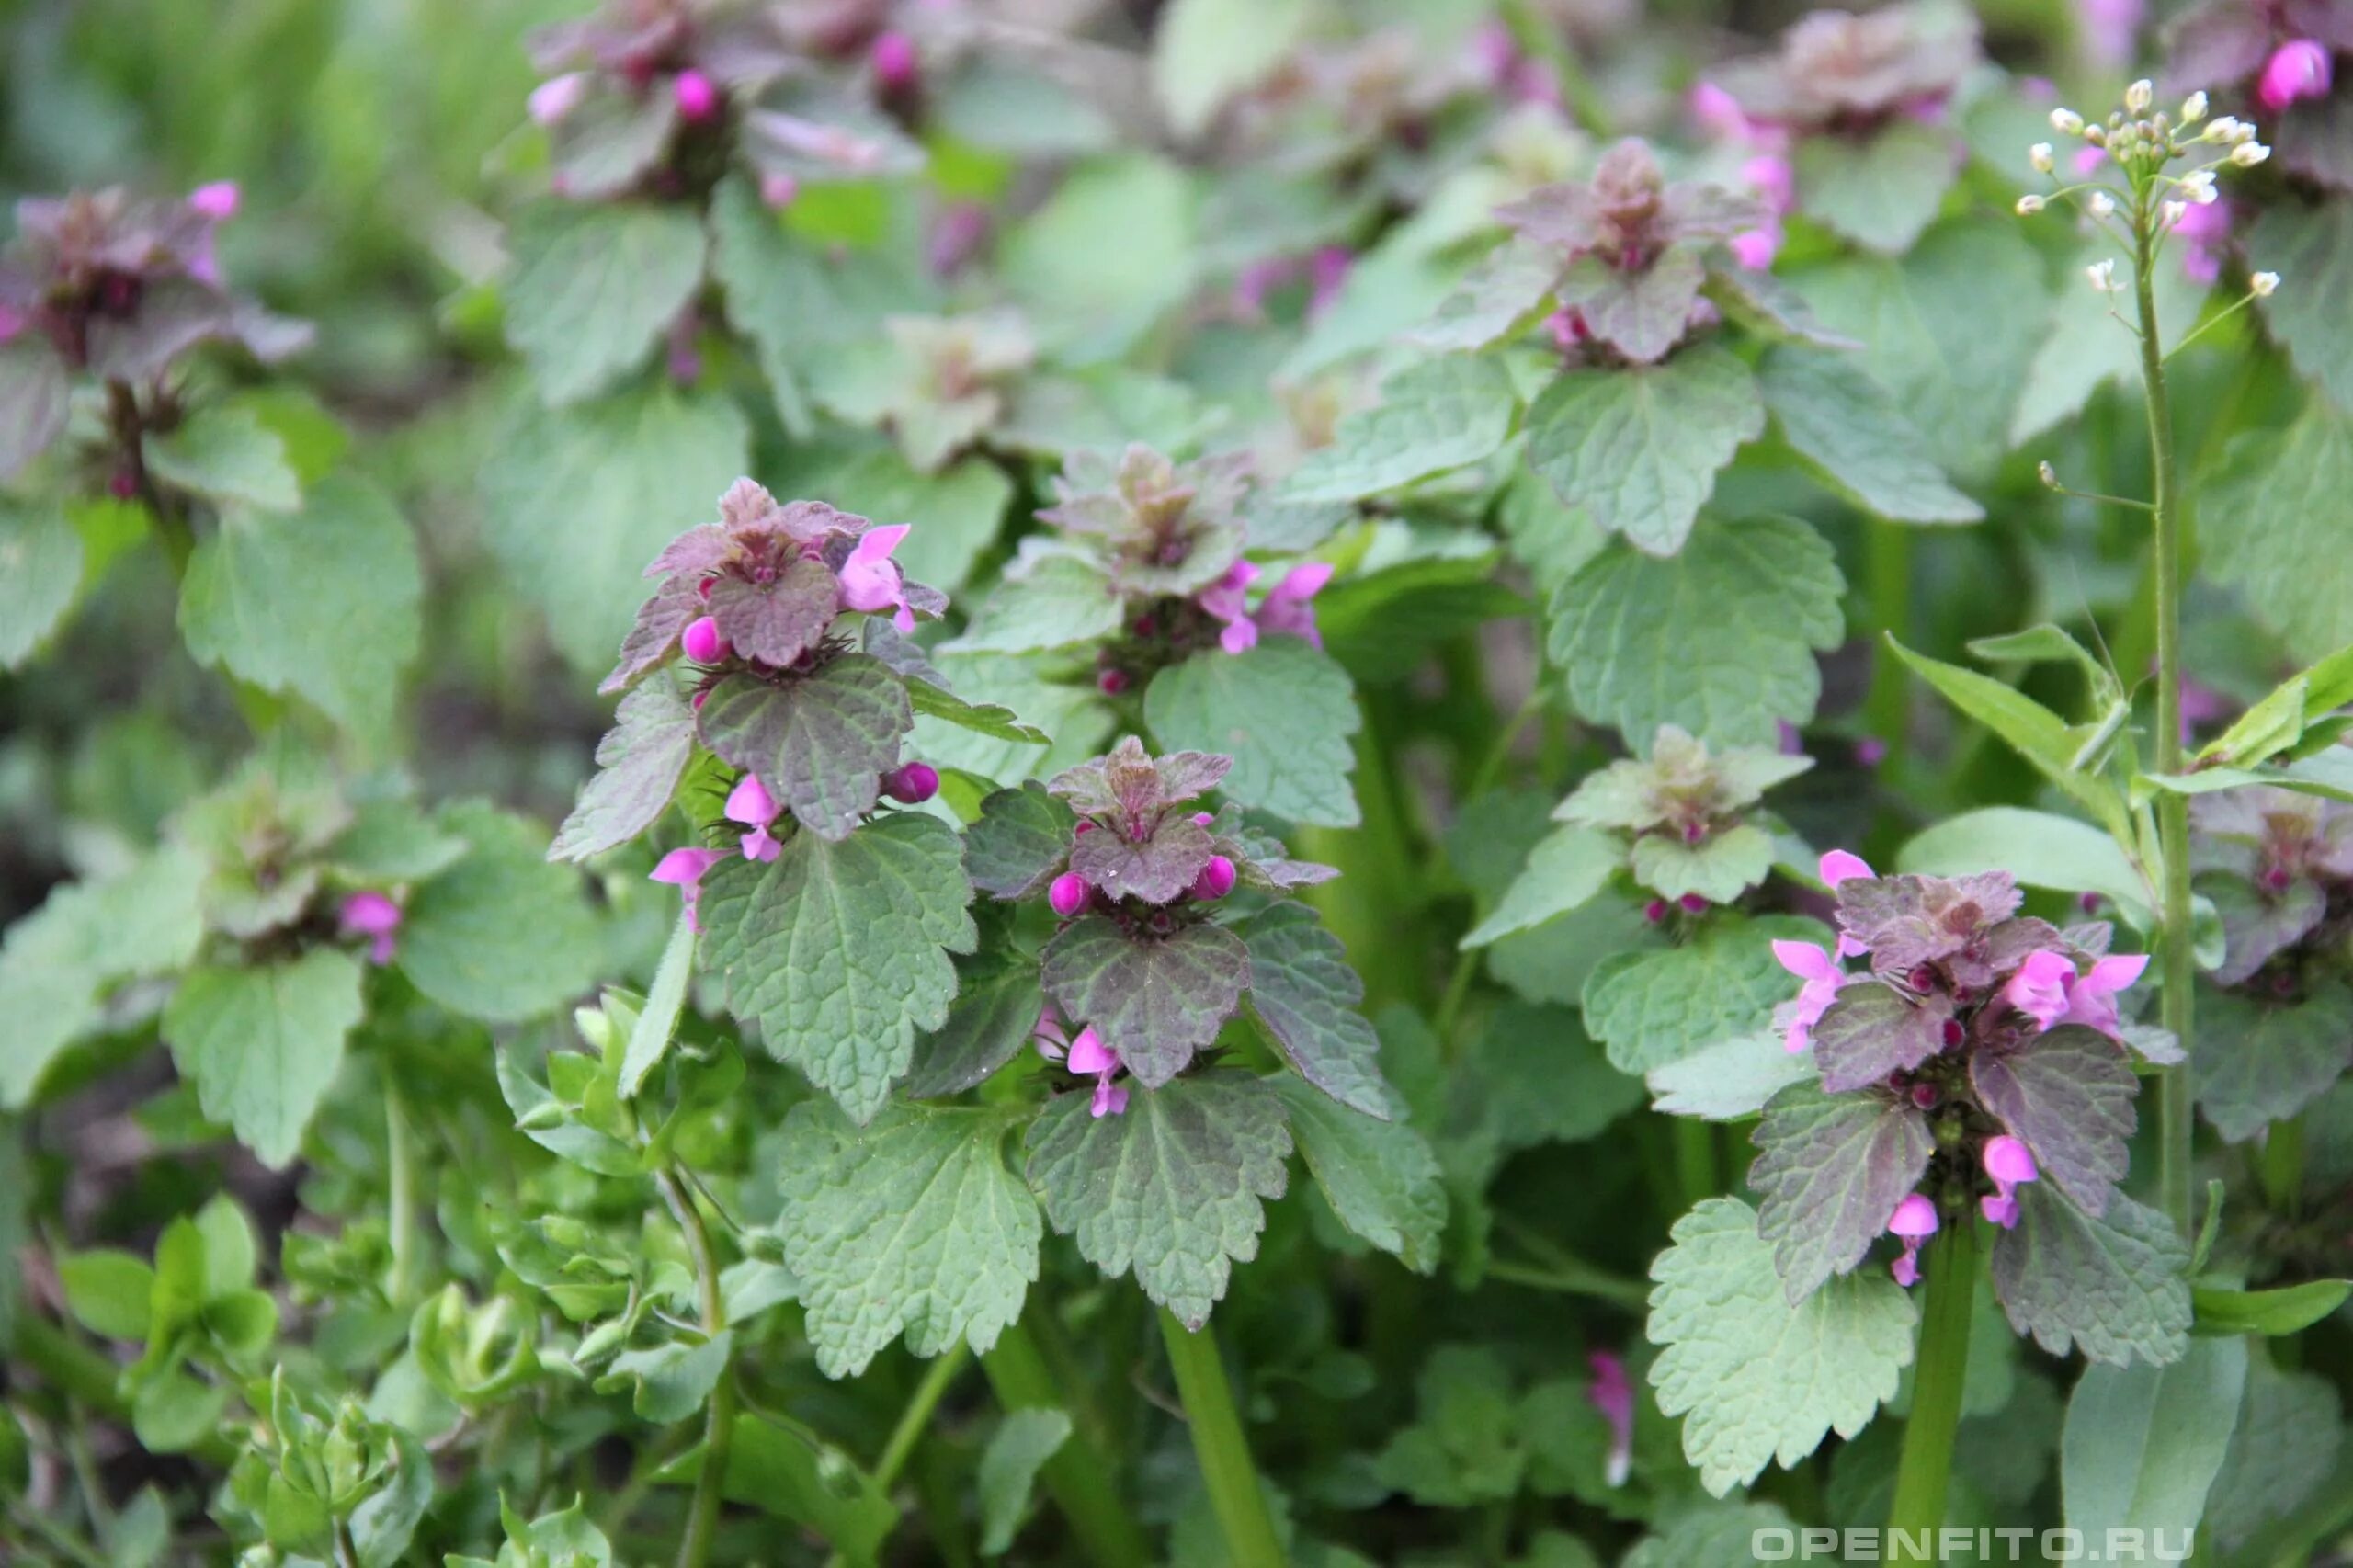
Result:
[[2028,1182],[2019,1227],[1993,1243],[1993,1290],[2009,1326],[2054,1356],[2165,1366],[2188,1347],[2188,1260],[2172,1222],[2125,1194],[2094,1220],[2049,1182]]

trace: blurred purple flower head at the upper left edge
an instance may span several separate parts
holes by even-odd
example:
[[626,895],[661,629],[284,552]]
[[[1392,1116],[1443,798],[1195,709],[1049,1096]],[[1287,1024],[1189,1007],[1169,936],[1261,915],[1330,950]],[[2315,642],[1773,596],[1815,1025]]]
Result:
[[14,360],[9,417],[21,424],[0,433],[0,478],[64,436],[78,372],[144,391],[198,344],[278,360],[311,341],[308,325],[221,283],[214,245],[235,212],[226,181],[184,200],[111,188],[16,202],[16,238],[0,252],[0,353]]

